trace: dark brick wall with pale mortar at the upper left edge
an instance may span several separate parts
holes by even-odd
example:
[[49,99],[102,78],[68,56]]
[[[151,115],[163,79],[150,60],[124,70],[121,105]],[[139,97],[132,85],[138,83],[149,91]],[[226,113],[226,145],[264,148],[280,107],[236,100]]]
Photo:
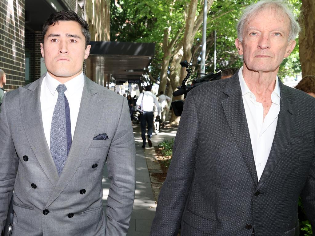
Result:
[[6,90],[25,83],[25,0],[0,2],[0,68],[7,77]]

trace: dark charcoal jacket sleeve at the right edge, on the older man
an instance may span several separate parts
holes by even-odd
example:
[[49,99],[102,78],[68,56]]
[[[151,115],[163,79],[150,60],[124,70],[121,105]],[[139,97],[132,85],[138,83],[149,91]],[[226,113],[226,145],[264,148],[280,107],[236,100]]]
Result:
[[312,225],[313,236],[315,236],[315,145],[310,171],[301,198],[306,216]]

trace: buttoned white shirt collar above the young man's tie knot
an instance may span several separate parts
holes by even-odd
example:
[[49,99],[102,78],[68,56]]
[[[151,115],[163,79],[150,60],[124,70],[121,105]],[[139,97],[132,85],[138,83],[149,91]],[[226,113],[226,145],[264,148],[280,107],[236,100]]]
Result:
[[[52,95],[54,95],[56,88],[58,87],[58,85],[60,85],[61,83],[54,79],[49,72],[47,71],[46,73],[46,85],[50,91],[50,93]],[[73,79],[67,81],[65,83],[66,87],[67,87],[67,91],[69,93],[69,95],[71,96],[73,93],[75,93],[82,85],[84,85],[84,76],[83,76],[83,72],[81,72],[81,74],[79,74],[78,76],[74,77]]]

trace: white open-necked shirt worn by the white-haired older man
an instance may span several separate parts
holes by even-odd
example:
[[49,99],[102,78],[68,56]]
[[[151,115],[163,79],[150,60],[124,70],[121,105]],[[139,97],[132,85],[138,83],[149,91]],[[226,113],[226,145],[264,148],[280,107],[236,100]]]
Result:
[[271,94],[272,104],[264,119],[264,108],[261,103],[256,101],[254,93],[249,90],[242,71],[243,67],[238,71],[238,77],[259,180],[265,169],[276,132],[280,111],[280,87],[278,76],[276,76],[276,86]]

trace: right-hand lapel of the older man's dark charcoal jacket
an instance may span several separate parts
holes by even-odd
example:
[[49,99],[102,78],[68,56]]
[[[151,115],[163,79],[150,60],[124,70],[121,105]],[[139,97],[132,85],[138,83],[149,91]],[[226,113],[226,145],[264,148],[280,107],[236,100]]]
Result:
[[288,88],[282,84],[280,79],[279,86],[281,98],[276,132],[273,138],[268,160],[257,185],[257,189],[266,182],[267,178],[272,174],[272,171],[278,161],[283,157],[284,150],[289,143],[292,127],[295,122],[295,109],[292,106],[294,98]]

